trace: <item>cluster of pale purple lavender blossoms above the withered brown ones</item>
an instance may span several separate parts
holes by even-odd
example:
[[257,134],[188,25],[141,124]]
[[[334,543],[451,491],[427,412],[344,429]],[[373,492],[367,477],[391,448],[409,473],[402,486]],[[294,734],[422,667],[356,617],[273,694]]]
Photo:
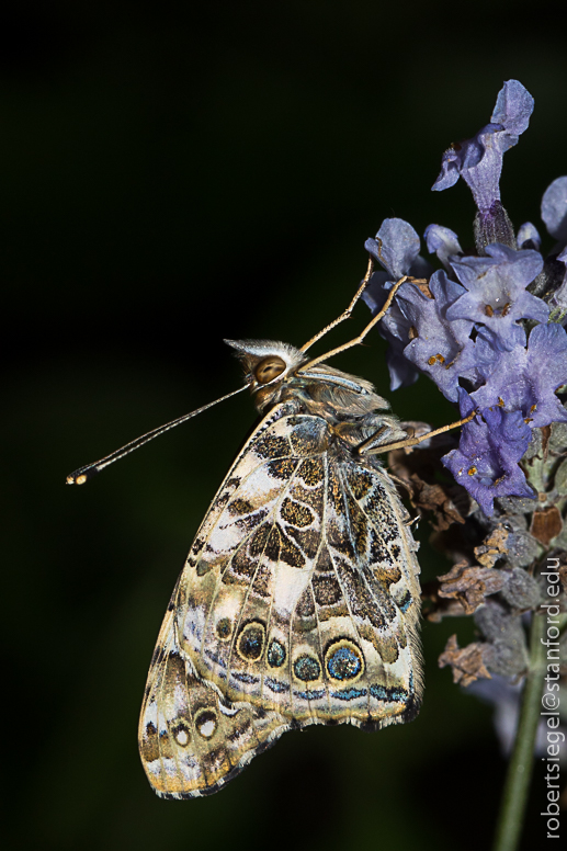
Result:
[[407,222],[386,219],[366,250],[384,271],[374,272],[364,299],[376,313],[402,275],[405,283],[379,322],[388,341],[392,389],[428,375],[461,416],[477,416],[443,464],[485,514],[496,497],[533,497],[519,462],[532,429],[567,422],[556,390],[567,384],[567,177],[542,201],[542,219],[556,245],[544,258],[530,222],[518,234],[500,201],[504,152],[526,129],[534,101],[517,80],[504,83],[490,124],[444,155],[433,190],[468,184],[477,206],[476,252],[464,252],[456,234],[440,225],[424,232],[442,269],[420,257],[420,239]]

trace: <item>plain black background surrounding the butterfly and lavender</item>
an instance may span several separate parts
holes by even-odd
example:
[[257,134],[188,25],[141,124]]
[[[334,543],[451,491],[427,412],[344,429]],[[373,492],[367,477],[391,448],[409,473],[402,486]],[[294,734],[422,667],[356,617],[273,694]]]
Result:
[[[245,395],[82,489],[65,476],[238,386],[223,338],[302,344],[338,315],[384,217],[470,242],[443,150],[506,79],[535,97],[507,154],[512,220],[566,173],[563,4],[20,1],[0,12],[4,799],[13,848],[474,849],[503,762],[491,710],[423,627],[419,718],[285,735],[219,794],[154,796],[136,728],[178,572],[253,422]],[[338,343],[367,319],[361,305]],[[322,347],[318,350],[324,351]],[[384,344],[334,363],[389,394]],[[449,422],[422,378],[393,397]],[[422,524],[421,537],[428,529]],[[426,578],[449,563],[423,549]],[[543,841],[544,781],[530,839]],[[5,832],[5,831],[4,831]],[[534,844],[535,843],[535,844]]]

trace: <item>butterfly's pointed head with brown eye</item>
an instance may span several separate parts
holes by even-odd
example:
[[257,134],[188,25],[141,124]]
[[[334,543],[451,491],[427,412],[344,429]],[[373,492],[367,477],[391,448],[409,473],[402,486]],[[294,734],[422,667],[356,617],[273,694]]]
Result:
[[288,382],[295,371],[307,363],[308,358],[288,343],[273,340],[225,340],[236,349],[240,359],[246,382],[250,390],[257,394],[257,404],[261,409],[275,401],[283,383]]

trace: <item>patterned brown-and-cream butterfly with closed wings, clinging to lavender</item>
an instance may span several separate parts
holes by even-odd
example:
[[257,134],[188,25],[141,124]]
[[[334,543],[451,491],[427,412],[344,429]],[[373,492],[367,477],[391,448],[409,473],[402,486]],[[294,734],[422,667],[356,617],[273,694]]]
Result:
[[306,354],[348,313],[303,349],[226,341],[261,420],[195,536],[151,660],[138,738],[161,797],[216,792],[288,729],[375,730],[419,712],[417,545],[376,456],[420,439],[368,382],[322,362],[362,336]]

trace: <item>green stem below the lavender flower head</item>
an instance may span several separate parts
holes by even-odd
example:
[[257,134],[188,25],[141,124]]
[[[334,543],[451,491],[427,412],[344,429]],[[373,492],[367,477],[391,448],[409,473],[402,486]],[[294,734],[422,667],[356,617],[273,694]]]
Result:
[[494,851],[515,851],[530,791],[533,752],[545,676],[545,615],[534,614],[530,633],[530,669],[525,678],[515,741],[508,765]]

